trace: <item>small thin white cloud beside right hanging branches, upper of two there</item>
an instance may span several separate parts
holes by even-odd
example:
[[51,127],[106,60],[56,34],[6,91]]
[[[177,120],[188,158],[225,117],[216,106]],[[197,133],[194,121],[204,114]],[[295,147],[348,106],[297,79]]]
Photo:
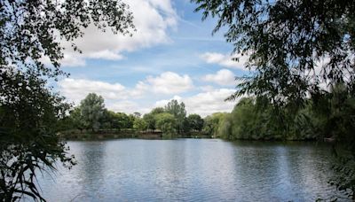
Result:
[[[245,69],[245,64],[248,61],[246,55],[241,56],[240,54],[228,55],[221,54],[217,52],[205,52],[200,55],[200,57],[209,64],[217,64],[219,66],[225,66],[229,68],[236,68],[241,70]],[[239,58],[239,61],[234,61],[232,58]]]

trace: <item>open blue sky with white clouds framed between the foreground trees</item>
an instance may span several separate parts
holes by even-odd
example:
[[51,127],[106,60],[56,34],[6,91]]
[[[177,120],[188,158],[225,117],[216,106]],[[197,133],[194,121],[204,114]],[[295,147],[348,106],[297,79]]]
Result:
[[[201,20],[190,0],[127,0],[137,31],[130,36],[95,27],[75,41],[82,54],[67,48],[56,89],[79,105],[91,92],[114,112],[149,113],[171,99],[188,114],[205,117],[231,112],[225,102],[235,91],[235,76],[248,74],[246,59],[233,61],[224,32],[212,35],[217,19]],[[66,47],[67,44],[64,44]]]

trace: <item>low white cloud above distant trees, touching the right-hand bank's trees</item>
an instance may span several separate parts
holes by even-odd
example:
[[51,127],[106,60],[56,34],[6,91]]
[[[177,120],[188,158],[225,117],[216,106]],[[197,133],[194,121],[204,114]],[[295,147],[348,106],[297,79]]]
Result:
[[212,113],[226,112],[230,113],[238,100],[234,102],[225,102],[225,98],[231,96],[234,89],[213,89],[209,92],[201,92],[192,97],[174,96],[171,99],[163,99],[155,102],[155,106],[164,106],[172,99],[185,103],[186,112],[197,113],[205,117]]

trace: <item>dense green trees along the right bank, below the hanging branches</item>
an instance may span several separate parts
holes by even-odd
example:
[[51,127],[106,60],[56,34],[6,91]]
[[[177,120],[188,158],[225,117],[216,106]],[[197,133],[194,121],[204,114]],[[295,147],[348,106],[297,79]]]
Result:
[[[296,112],[275,107],[264,97],[243,97],[231,113],[214,113],[205,119],[206,130],[228,140],[351,140],[355,97],[342,84],[326,97],[308,99]],[[280,114],[283,114],[280,116]],[[209,126],[209,127],[207,127]]]

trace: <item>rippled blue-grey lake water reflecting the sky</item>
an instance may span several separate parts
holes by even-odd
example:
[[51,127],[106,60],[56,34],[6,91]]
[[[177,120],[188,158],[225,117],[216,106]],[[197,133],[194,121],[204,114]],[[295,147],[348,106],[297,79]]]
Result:
[[49,201],[314,201],[327,184],[330,148],[218,139],[68,142],[78,164],[42,175]]

